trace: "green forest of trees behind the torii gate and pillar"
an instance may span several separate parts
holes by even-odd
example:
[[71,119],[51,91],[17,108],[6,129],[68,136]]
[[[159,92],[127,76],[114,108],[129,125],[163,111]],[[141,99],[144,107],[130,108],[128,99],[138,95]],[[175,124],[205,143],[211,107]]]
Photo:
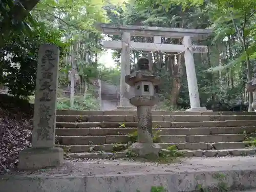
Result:
[[[102,44],[106,36],[95,29],[95,24],[111,23],[213,29],[207,39],[194,42],[208,46],[209,50],[208,54],[194,54],[201,105],[228,111],[237,105],[248,108],[252,102],[252,93],[246,93],[246,83],[256,77],[254,0],[41,0],[34,8],[18,1],[1,3],[0,83],[14,96],[33,102],[38,47],[55,44],[60,48],[58,109],[98,110],[95,80],[120,85],[120,51],[113,51],[113,67],[106,67],[108,60],[99,59],[105,51]],[[28,16],[23,19],[25,15]],[[108,38],[120,39],[110,35]],[[153,37],[132,38],[153,42]],[[162,38],[166,44],[181,44],[181,40]],[[189,108],[183,55],[142,55],[132,51],[131,69],[141,56],[150,58],[154,71],[164,79],[157,90],[158,109]],[[80,79],[74,96],[68,88],[72,67]],[[248,110],[252,110],[250,105]]]

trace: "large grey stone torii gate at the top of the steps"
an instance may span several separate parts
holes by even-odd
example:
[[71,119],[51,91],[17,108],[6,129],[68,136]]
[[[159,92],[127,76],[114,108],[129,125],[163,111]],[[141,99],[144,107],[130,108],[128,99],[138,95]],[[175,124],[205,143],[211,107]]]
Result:
[[[129,85],[125,83],[125,75],[130,74],[130,53],[131,49],[140,51],[162,51],[162,52],[184,52],[185,66],[187,73],[187,83],[190,99],[190,109],[187,111],[206,111],[201,108],[197,77],[194,63],[194,53],[207,53],[207,46],[194,46],[191,44],[191,37],[197,39],[205,38],[209,35],[211,29],[179,29],[179,28],[161,28],[144,26],[124,26],[112,24],[99,24],[104,34],[120,35],[121,41],[104,41],[105,49],[121,49],[121,78],[120,78],[120,106],[130,106],[129,99],[125,97],[129,92]],[[134,42],[131,36],[154,37],[154,43]],[[183,45],[162,44],[161,37],[183,38]]]

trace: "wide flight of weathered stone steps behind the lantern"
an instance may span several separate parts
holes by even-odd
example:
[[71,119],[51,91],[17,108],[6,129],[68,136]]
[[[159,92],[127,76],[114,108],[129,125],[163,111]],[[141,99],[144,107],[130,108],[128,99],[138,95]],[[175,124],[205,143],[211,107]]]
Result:
[[[245,142],[256,136],[254,112],[153,111],[152,119],[160,146],[175,144],[185,156],[255,154]],[[56,144],[72,158],[125,157],[136,127],[137,111],[57,111]]]

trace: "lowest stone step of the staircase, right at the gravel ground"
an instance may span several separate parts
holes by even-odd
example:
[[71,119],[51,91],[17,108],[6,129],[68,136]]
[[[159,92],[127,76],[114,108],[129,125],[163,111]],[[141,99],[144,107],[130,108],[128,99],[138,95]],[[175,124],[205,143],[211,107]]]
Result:
[[[185,157],[215,157],[215,156],[246,156],[246,155],[254,155],[255,149],[253,148],[241,148],[241,149],[229,149],[229,150],[178,150],[178,152],[182,152]],[[97,159],[109,159],[109,158],[124,158],[126,154],[124,152],[117,153],[70,153],[69,156],[71,158],[97,158]]]

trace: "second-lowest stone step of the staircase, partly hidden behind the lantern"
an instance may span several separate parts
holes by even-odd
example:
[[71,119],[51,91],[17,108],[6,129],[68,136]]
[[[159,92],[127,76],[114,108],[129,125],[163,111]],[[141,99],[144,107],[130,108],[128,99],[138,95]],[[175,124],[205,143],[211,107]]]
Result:
[[[131,144],[131,143],[130,143]],[[220,143],[159,143],[162,148],[176,145],[178,150],[227,150],[234,148],[245,148],[249,146],[246,142],[220,142]],[[79,152],[120,152],[124,151],[128,144],[103,144],[103,145],[57,145],[63,149],[67,148],[71,153]]]

